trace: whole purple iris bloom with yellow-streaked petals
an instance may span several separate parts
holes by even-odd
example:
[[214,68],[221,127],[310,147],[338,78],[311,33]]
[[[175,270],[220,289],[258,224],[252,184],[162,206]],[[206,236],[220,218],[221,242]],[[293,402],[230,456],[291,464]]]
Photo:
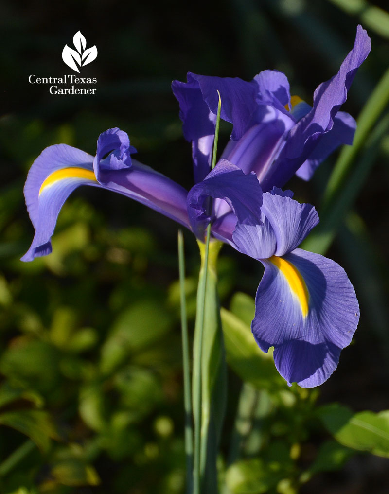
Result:
[[[355,121],[339,108],[369,51],[370,40],[358,26],[352,50],[339,72],[317,87],[312,108],[290,96],[286,76],[276,71],[263,71],[251,82],[192,73],[187,82],[174,81],[184,136],[192,142],[195,185],[189,192],[132,159],[135,149],[118,128],[100,134],[95,157],[65,144],[46,148],[24,189],[36,233],[22,259],[51,252],[59,210],[79,185],[135,199],[186,226],[201,241],[211,222],[214,238],[264,266],[252,323],[260,348],[274,347],[275,365],[288,383],[321,384],[356,329],[358,301],[338,264],[298,248],[317,224],[317,212],[280,187],[295,173],[309,179],[336,147],[351,144]],[[233,130],[210,172],[216,90],[221,118]]]

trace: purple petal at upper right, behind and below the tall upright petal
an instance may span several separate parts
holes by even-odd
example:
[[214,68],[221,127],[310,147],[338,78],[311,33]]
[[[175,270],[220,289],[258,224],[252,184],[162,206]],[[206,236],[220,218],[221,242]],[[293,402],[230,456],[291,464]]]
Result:
[[351,115],[346,112],[338,112],[334,118],[334,126],[321,136],[317,146],[296,171],[296,175],[303,180],[310,180],[320,163],[335,149],[342,144],[352,144],[355,129],[356,122]]

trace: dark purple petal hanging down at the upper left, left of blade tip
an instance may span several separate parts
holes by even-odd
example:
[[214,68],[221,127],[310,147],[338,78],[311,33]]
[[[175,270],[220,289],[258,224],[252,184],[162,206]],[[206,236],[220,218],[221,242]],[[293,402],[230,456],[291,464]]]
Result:
[[205,178],[211,168],[216,114],[204,101],[199,82],[191,73],[188,73],[187,81],[173,81],[172,90],[179,103],[184,137],[192,142],[193,171],[197,183]]

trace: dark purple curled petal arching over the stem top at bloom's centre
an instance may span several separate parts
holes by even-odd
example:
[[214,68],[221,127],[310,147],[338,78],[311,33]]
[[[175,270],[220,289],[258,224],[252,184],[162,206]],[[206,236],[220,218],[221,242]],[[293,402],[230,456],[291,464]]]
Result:
[[[192,230],[203,240],[211,220],[209,198],[223,199],[241,223],[260,223],[262,191],[256,175],[245,175],[236,165],[220,160],[205,180],[194,185],[187,198]],[[232,232],[230,232],[232,234]]]

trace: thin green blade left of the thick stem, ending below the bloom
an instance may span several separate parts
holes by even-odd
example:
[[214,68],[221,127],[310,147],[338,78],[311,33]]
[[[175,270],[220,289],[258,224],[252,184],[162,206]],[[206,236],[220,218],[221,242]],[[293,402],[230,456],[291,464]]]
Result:
[[178,231],[178,266],[181,305],[182,366],[184,375],[185,409],[185,456],[186,456],[186,492],[193,493],[193,429],[192,400],[190,396],[188,322],[185,302],[185,258],[182,231]]

